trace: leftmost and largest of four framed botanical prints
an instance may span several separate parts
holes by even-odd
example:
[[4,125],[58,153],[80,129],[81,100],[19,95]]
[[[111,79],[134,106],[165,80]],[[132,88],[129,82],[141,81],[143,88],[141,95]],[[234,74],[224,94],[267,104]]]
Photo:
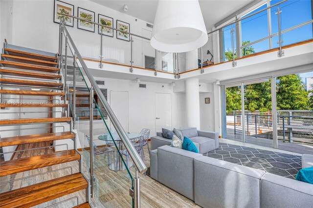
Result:
[[74,5],[60,1],[54,0],[54,12],[53,12],[53,21],[56,23],[60,23],[60,20],[64,18],[65,25],[74,26],[73,18],[68,17],[67,15],[74,16]]

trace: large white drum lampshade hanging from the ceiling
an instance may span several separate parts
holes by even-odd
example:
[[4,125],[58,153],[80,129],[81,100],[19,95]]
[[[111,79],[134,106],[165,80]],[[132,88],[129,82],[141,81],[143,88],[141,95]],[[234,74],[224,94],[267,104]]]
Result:
[[151,46],[170,53],[192,51],[208,41],[198,0],[159,0]]

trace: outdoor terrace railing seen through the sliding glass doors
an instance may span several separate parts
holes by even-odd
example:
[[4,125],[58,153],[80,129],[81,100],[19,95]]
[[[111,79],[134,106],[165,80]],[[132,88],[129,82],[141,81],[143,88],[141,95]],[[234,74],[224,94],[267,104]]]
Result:
[[[305,116],[296,115],[304,114]],[[288,115],[284,115],[288,114]],[[311,114],[311,116],[310,116]],[[306,116],[307,115],[307,116]],[[243,134],[242,114],[233,114],[234,134]],[[227,124],[228,128],[232,124]],[[312,111],[278,111],[277,115],[278,139],[283,142],[313,144],[313,112]],[[273,121],[271,112],[246,113],[246,136],[273,139]]]

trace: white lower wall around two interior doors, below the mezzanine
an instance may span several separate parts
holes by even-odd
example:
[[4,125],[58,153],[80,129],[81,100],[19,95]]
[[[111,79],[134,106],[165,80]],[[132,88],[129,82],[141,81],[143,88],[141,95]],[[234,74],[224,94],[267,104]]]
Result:
[[156,135],[156,93],[171,93],[172,96],[172,127],[186,127],[185,94],[174,93],[173,87],[168,83],[145,83],[147,88],[139,88],[138,83],[131,80],[117,80],[96,77],[104,80],[101,88],[108,89],[108,102],[111,91],[127,91],[129,93],[129,131],[140,132],[142,128],[151,129],[150,136]]

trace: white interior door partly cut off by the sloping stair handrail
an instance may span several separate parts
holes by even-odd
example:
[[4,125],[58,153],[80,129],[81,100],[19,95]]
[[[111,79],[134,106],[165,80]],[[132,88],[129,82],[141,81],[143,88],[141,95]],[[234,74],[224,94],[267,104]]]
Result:
[[[125,131],[129,131],[128,92],[110,91],[111,108]],[[112,122],[110,127],[114,128]]]

